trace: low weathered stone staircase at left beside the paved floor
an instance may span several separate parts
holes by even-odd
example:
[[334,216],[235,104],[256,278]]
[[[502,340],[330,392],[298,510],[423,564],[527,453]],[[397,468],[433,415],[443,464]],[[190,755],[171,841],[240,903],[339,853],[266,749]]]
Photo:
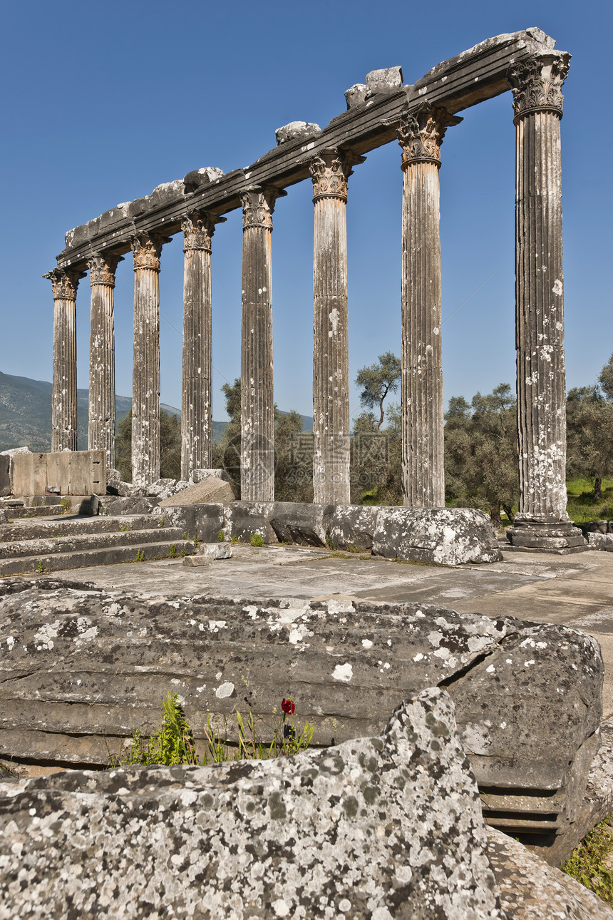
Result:
[[[49,515],[53,506],[32,508]],[[57,514],[59,509],[54,509]],[[31,517],[0,524],[0,576],[53,572],[187,556],[192,540],[179,527],[160,526],[160,518]]]

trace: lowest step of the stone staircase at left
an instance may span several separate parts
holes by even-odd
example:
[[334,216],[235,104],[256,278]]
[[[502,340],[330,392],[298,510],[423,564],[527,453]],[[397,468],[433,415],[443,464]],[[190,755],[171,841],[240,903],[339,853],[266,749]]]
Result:
[[193,553],[194,548],[191,540],[164,540],[159,543],[81,549],[71,553],[20,556],[0,559],[0,576],[31,575],[35,572],[84,569],[90,566],[115,565],[119,562],[146,562],[151,559],[175,558],[182,555],[188,556]]

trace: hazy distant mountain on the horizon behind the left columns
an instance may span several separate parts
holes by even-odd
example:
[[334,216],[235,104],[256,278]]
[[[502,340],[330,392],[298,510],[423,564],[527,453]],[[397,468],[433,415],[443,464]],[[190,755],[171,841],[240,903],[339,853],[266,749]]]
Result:
[[[115,397],[117,422],[128,414],[130,397]],[[181,418],[181,409],[161,404],[169,415]],[[88,391],[76,391],[77,443],[79,450],[87,447]],[[312,419],[302,416],[305,431],[311,431]],[[219,441],[225,421],[213,421],[213,437]],[[29,447],[31,451],[51,450],[51,384],[46,380],[31,380],[0,371],[0,451],[11,447]]]

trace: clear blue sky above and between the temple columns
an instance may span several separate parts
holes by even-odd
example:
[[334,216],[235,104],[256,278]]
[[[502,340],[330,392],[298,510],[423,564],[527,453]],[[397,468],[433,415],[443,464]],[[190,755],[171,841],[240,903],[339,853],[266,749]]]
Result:
[[[567,383],[594,382],[613,351],[612,18],[604,2],[6,5],[0,370],[51,380],[53,302],[40,276],[55,265],[66,230],[191,169],[248,166],[289,121],[324,127],[345,109],[346,88],[370,70],[401,64],[404,83],[414,83],[481,40],[539,26],[573,54],[562,119]],[[440,170],[446,400],[515,385],[511,95],[461,114],[447,132]],[[388,144],[349,180],[352,380],[381,352],[400,354],[400,157]],[[310,182],[292,186],[277,203],[273,232],[275,398],[305,415],[312,412],[311,199]],[[242,226],[238,211],[227,217],[212,256],[219,420],[220,387],[240,374]],[[181,242],[176,236],[164,248],[160,276],[162,400],[173,406],[181,405]],[[126,259],[115,293],[124,396],[131,395],[131,285]],[[88,314],[85,279],[77,297],[79,386],[87,386]],[[351,409],[358,414],[355,388]]]

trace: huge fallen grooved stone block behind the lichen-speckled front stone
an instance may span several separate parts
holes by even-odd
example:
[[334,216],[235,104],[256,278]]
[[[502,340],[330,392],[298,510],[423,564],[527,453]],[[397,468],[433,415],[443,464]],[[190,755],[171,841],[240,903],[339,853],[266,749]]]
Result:
[[[3,596],[4,595],[4,596]],[[272,735],[295,699],[314,742],[376,734],[399,697],[444,686],[489,822],[572,823],[599,744],[603,662],[566,627],[437,606],[298,599],[161,600],[66,582],[0,583],[0,756],[108,763],[152,734],[166,692],[203,745],[253,707]]]

